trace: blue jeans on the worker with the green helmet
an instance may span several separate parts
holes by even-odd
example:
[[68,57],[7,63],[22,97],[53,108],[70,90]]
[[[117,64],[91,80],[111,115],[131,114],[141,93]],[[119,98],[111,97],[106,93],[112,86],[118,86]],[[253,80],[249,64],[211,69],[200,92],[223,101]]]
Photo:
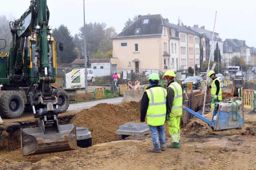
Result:
[[[161,126],[148,125],[148,127],[149,127],[149,130],[150,130],[150,133],[151,133],[154,148],[155,149],[160,149],[159,141],[160,141],[160,144],[162,146],[165,145],[164,125],[161,125]],[[158,131],[158,134],[159,134],[159,138],[158,138],[158,135],[157,135],[157,131]]]

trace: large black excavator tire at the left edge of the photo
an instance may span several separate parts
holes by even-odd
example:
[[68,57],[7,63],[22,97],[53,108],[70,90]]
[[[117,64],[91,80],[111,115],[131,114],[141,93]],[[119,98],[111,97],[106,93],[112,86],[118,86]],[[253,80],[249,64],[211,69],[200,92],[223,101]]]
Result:
[[3,116],[8,119],[21,117],[24,112],[25,102],[18,91],[4,93],[1,99],[1,110]]

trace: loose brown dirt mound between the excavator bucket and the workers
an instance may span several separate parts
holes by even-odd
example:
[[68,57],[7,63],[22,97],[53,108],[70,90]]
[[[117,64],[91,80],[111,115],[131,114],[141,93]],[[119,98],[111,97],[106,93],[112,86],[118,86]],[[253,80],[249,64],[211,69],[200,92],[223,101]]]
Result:
[[92,134],[93,144],[118,140],[121,136],[116,134],[116,130],[120,125],[129,122],[140,123],[138,102],[118,105],[100,103],[80,111],[70,121],[75,123],[76,127],[88,128]]

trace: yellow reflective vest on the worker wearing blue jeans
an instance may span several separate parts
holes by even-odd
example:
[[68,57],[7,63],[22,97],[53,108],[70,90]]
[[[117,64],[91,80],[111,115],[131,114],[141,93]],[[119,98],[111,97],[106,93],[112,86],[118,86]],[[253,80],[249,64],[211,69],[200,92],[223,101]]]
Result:
[[162,87],[152,87],[146,90],[148,95],[147,124],[160,126],[165,122],[167,91]]

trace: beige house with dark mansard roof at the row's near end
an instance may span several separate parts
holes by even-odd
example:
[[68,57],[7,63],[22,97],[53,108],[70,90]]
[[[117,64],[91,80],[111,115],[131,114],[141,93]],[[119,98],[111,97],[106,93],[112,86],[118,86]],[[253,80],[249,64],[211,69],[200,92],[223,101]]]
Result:
[[170,33],[161,14],[139,16],[138,20],[113,40],[116,68],[142,72],[171,69]]

